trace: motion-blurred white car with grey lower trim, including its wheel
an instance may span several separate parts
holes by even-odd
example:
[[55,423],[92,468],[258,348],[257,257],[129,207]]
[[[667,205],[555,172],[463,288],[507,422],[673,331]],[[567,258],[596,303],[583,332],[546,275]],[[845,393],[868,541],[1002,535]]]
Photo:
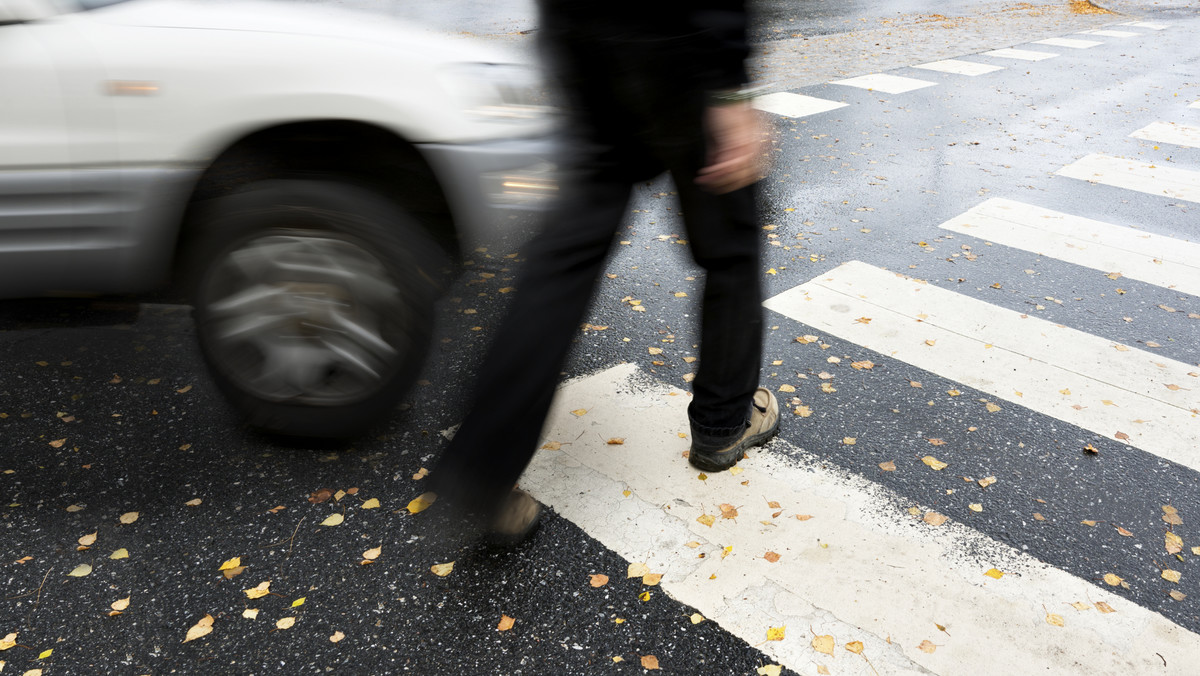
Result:
[[334,7],[0,0],[0,298],[186,279],[251,424],[360,432],[416,377],[446,262],[553,193],[540,95]]

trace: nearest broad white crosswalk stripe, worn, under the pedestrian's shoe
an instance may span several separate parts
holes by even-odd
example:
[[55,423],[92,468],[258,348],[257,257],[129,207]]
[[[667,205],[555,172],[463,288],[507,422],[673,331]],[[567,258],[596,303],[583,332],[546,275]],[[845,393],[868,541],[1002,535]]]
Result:
[[[568,383],[546,427],[562,450],[540,451],[521,485],[662,574],[659,587],[646,587],[652,594],[695,606],[773,660],[803,674],[823,665],[833,674],[978,676],[1075,674],[1085,664],[1097,675],[1188,674],[1200,663],[1200,638],[1163,616],[964,524],[928,526],[902,497],[784,441],[751,451],[739,474],[698,479],[680,457],[688,400],[632,364]],[[587,413],[570,413],[580,408]],[[624,443],[606,444],[612,437]],[[737,518],[721,519],[721,504]],[[715,516],[712,527],[697,522],[704,514]],[[776,563],[763,558],[768,551],[780,555]],[[1006,575],[988,578],[989,568]],[[587,591],[586,579],[580,585]],[[1076,602],[1116,612],[1078,611]],[[1064,626],[1048,624],[1048,612]],[[770,627],[786,627],[784,640],[767,641]],[[833,636],[833,656],[812,650],[814,633]],[[856,640],[869,662],[845,650]],[[923,652],[922,641],[937,648]]]

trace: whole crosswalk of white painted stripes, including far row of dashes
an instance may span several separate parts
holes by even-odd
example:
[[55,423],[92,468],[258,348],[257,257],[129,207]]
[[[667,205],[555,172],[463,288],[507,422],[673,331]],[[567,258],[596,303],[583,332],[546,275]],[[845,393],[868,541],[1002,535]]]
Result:
[[[1168,28],[1128,22],[1040,40],[1038,49],[1018,46],[913,67],[986,78],[1003,71],[1001,64],[1060,55],[1042,48],[1099,50]],[[874,73],[828,84],[906,96],[940,83]],[[775,92],[756,106],[804,118],[851,103]],[[1160,112],[1171,120],[1140,120],[1121,134],[1198,148],[1200,127],[1172,121],[1190,108],[1200,101]],[[1049,180],[1066,192],[1082,190],[1092,202],[1200,202],[1200,167],[1190,156],[1163,166],[1127,156],[1127,146],[1094,150],[1057,166]],[[1055,192],[980,197],[930,225],[977,247],[991,246],[992,259],[1036,255],[1068,267],[1072,276],[1200,295],[1200,243],[1188,239],[1192,233],[1158,234],[1116,215],[1078,214],[1078,204],[1057,203]],[[1121,342],[1064,325],[1039,303],[1014,310],[907,273],[847,261],[775,293],[764,306],[784,331],[818,334],[804,335],[802,343],[838,339],[880,361],[955,383],[944,396],[961,397],[956,401],[978,415],[1044,417],[1129,454],[1200,472],[1194,349],[1172,352],[1192,355],[1186,359],[1169,358],[1152,341]],[[1159,307],[1192,322],[1183,335],[1200,340],[1200,315]],[[688,396],[635,364],[568,383],[544,432],[556,443],[536,456],[522,485],[638,569],[644,564],[660,574],[662,591],[778,664],[804,674],[1008,675],[1189,674],[1200,663],[1200,635],[1153,603],[1116,593],[1122,586],[1116,575],[1102,582],[1103,572],[1085,579],[1045,564],[788,439],[752,453],[732,472],[697,473],[680,461],[689,448]],[[780,399],[786,415],[794,407],[805,417],[806,406],[788,403],[790,395]],[[907,462],[940,469],[931,456]],[[881,471],[890,471],[884,465]],[[972,490],[989,485],[964,478]],[[971,510],[990,509],[988,493],[977,495]],[[1171,560],[1162,558],[1165,578]],[[822,650],[824,639],[839,650]]]

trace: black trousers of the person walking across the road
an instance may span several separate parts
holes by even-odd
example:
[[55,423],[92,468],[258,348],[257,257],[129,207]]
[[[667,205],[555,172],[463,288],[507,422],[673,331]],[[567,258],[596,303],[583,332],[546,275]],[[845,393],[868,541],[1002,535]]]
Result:
[[[545,229],[526,247],[512,306],[482,363],[475,402],[431,479],[439,498],[482,513],[533,457],[572,339],[588,310],[635,183],[671,172],[689,250],[704,269],[700,369],[688,409],[694,443],[742,435],[758,384],[762,291],[752,186],[713,195],[703,92],[616,46],[559,61],[576,143]],[[624,56],[620,56],[624,54]],[[598,62],[604,61],[604,62]]]

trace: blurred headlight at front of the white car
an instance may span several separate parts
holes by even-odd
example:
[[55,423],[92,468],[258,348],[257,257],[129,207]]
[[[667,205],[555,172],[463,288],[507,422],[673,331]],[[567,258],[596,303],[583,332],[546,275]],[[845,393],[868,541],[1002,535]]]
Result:
[[530,66],[454,64],[443,76],[446,89],[475,119],[523,121],[541,118],[550,110],[541,78]]

